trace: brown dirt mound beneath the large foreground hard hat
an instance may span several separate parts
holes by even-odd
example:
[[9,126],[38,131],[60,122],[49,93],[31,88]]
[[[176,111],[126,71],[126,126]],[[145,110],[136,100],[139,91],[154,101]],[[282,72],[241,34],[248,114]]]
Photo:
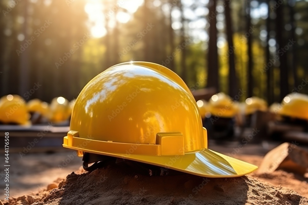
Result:
[[82,174],[73,172],[48,192],[11,199],[10,204],[308,204],[295,191],[249,176],[146,176],[116,164]]

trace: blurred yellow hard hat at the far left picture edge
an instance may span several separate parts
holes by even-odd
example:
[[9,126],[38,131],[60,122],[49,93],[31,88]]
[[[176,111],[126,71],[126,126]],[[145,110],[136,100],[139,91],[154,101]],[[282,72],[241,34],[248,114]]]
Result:
[[7,95],[0,99],[0,121],[4,124],[29,125],[30,114],[25,100],[18,95]]

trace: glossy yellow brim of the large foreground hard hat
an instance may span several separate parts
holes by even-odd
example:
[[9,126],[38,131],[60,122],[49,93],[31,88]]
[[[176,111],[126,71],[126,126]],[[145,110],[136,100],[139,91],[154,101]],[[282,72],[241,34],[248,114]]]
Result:
[[237,160],[233,157],[214,152],[207,148],[203,148],[197,152],[185,153],[182,156],[149,156],[105,153],[94,150],[87,150],[84,148],[71,147],[67,144],[63,144],[63,147],[80,150],[82,152],[134,160],[147,164],[157,165],[166,169],[174,169],[193,175],[212,178],[243,176],[258,168],[253,164]]

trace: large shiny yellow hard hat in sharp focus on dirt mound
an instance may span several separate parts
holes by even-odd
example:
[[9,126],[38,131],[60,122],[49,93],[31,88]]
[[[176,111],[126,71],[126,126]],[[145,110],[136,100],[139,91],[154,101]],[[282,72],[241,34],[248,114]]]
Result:
[[90,156],[95,163],[112,156],[205,177],[257,169],[208,149],[207,131],[184,81],[148,62],[121,63],[93,78],[77,97],[63,147],[84,154],[84,167]]

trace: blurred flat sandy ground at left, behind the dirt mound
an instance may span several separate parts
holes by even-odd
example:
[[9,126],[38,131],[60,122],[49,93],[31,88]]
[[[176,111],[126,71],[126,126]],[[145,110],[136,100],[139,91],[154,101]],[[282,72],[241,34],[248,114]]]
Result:
[[[10,195],[20,196],[34,191],[42,191],[47,185],[58,178],[65,178],[82,164],[80,157],[74,156],[74,151],[56,153],[27,153],[20,156],[10,153]],[[63,160],[67,160],[64,164]],[[1,161],[1,167],[4,160]],[[62,167],[59,168],[59,165]],[[66,165],[66,166],[64,166]],[[3,169],[4,170],[4,169]],[[1,170],[2,171],[2,170]],[[0,184],[4,187],[5,171],[0,171]],[[4,189],[0,189],[3,200]]]

